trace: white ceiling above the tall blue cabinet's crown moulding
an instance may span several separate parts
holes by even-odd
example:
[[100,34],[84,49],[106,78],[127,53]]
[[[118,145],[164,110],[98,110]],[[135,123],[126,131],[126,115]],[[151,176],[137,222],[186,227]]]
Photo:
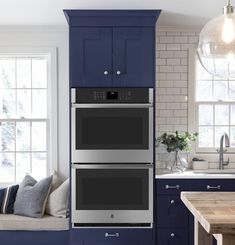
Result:
[[226,0],[0,0],[0,25],[65,26],[63,9],[162,9],[159,26],[201,27],[222,14],[225,3]]

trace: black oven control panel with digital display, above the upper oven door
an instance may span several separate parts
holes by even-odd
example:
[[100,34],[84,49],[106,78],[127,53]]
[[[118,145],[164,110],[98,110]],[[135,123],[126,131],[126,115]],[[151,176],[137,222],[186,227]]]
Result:
[[72,103],[152,103],[152,88],[73,88]]

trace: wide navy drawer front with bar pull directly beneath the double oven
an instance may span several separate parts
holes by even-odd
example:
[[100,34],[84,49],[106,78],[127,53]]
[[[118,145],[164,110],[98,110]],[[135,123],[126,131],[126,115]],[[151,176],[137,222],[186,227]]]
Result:
[[78,228],[70,230],[70,245],[153,245],[153,229]]

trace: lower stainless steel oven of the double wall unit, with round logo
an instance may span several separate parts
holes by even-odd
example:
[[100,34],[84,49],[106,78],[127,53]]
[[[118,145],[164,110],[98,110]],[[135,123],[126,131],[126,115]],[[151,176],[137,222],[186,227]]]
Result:
[[152,164],[72,165],[73,227],[152,223]]

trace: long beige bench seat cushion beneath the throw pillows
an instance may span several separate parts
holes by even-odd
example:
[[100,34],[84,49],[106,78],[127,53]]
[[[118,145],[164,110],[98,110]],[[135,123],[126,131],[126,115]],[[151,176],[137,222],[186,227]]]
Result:
[[68,230],[69,219],[44,215],[42,218],[30,218],[15,214],[0,214],[0,230]]

